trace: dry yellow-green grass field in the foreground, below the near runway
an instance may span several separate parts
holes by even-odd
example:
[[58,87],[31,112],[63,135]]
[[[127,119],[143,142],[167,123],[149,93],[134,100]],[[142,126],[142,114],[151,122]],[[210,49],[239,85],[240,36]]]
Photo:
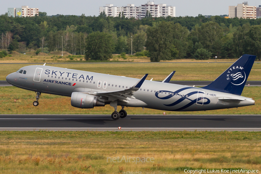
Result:
[[[260,139],[260,132],[1,131],[0,173],[164,174],[184,173],[185,168],[260,172]],[[110,162],[113,157],[123,160]],[[125,162],[124,157],[135,161]]]

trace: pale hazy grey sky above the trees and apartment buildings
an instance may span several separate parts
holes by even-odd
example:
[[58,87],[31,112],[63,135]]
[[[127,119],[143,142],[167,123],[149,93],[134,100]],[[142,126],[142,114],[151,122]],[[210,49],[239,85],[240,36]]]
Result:
[[[151,0],[153,1],[153,0]],[[155,4],[165,3],[167,6],[176,7],[176,17],[179,16],[197,16],[202,15],[221,15],[228,14],[228,6],[236,6],[238,3],[243,3],[240,0],[155,0]],[[99,7],[105,4],[113,4],[113,6],[127,6],[134,4],[141,6],[147,3],[147,0],[12,0],[1,1],[0,14],[7,12],[7,8],[21,8],[21,6],[29,6],[29,8],[39,8],[40,12],[47,12],[47,15],[69,14],[85,16],[98,16]],[[261,1],[249,0],[249,6],[259,6]]]

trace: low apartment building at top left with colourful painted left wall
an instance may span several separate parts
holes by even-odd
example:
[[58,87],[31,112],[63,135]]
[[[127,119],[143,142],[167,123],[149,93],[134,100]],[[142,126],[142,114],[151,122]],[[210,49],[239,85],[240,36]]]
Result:
[[39,16],[39,8],[28,8],[28,6],[22,6],[22,8],[8,8],[7,10],[7,15],[9,17]]

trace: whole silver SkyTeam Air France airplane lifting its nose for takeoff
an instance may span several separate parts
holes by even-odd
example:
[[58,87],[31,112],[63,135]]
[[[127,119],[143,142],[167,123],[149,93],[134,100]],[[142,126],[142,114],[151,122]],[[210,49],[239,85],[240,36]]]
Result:
[[[256,56],[243,55],[211,84],[202,88],[168,83],[175,71],[162,82],[92,73],[53,66],[25,66],[6,77],[18,88],[35,91],[38,106],[41,93],[71,97],[77,108],[110,104],[113,119],[124,118],[124,107],[142,107],[166,111],[199,111],[254,105],[240,96]],[[117,112],[117,106],[122,110]]]

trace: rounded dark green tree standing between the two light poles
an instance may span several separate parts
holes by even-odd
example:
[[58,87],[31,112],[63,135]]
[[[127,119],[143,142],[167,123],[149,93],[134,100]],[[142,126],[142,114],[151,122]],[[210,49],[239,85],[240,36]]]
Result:
[[109,60],[114,51],[113,36],[106,32],[93,32],[86,37],[85,60]]

